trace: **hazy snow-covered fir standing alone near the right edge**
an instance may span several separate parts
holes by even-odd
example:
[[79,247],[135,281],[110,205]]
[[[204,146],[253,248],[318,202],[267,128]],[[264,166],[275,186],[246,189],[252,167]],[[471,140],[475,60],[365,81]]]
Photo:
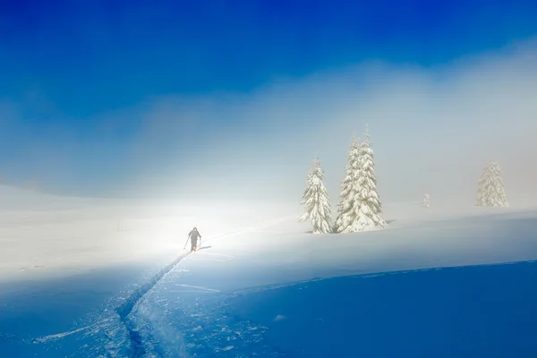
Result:
[[488,163],[478,182],[477,206],[507,208],[506,189],[498,162]]

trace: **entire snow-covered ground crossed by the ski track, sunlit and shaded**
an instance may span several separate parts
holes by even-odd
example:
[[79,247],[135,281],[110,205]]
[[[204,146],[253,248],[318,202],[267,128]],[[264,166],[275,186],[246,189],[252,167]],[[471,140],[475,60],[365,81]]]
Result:
[[[526,289],[535,265],[474,265],[536,260],[537,210],[387,204],[386,230],[314,235],[293,205],[61,208],[4,212],[6,356],[463,357],[494,348],[524,357],[536,348],[524,339],[537,334],[526,324],[537,320]],[[188,254],[192,222],[202,248]],[[21,271],[30,262],[45,267]],[[386,275],[428,268],[443,269]],[[499,337],[504,345],[490,344]]]

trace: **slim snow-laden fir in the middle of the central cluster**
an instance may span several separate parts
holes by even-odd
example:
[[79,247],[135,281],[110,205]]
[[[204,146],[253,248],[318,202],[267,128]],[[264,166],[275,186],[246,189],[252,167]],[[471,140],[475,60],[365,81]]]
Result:
[[354,232],[355,221],[358,217],[358,172],[360,171],[360,152],[356,137],[351,142],[351,149],[348,152],[347,165],[345,167],[345,178],[341,183],[341,192],[337,203],[337,218],[334,225],[334,232],[351,233]]

